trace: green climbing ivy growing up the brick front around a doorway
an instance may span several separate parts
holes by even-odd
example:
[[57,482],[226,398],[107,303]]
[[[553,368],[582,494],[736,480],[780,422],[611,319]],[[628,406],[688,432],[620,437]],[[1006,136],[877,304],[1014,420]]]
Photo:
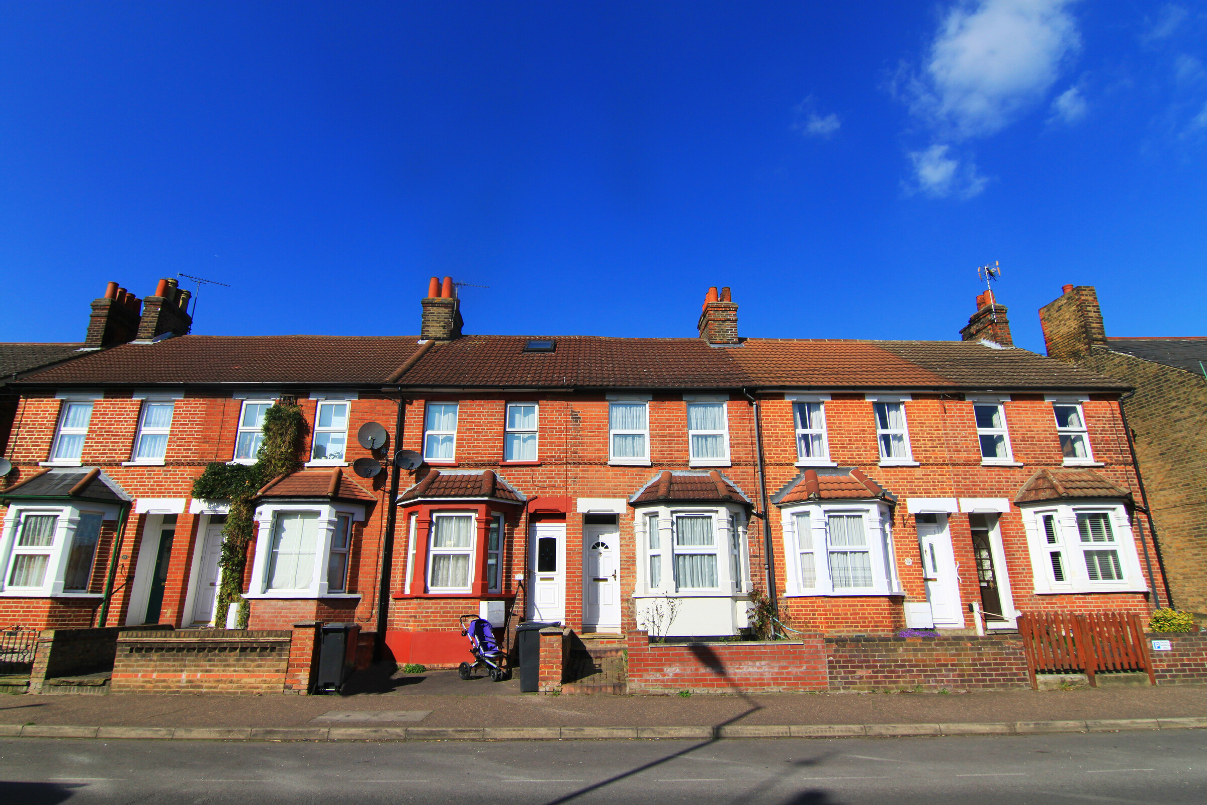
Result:
[[247,546],[255,537],[256,492],[278,476],[297,472],[298,448],[305,434],[305,419],[296,401],[282,398],[264,412],[264,438],[256,453],[256,463],[215,461],[193,482],[193,497],[231,501],[222,529],[222,583],[218,585],[215,617],[225,623],[226,611],[239,605],[238,629],[247,628],[249,607],[243,597],[243,577],[247,566]]

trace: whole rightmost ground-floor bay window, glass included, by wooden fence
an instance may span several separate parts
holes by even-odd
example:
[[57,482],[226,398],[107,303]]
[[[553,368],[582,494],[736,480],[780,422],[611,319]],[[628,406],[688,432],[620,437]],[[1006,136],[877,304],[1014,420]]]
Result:
[[1036,593],[1147,589],[1131,523],[1121,503],[1020,508]]

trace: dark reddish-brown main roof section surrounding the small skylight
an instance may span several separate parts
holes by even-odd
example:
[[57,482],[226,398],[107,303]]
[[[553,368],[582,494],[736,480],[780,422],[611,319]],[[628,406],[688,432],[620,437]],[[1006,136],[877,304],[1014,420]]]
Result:
[[[533,338],[553,352],[525,352]],[[424,386],[734,387],[745,375],[729,352],[699,338],[463,336],[437,344],[398,379]]]

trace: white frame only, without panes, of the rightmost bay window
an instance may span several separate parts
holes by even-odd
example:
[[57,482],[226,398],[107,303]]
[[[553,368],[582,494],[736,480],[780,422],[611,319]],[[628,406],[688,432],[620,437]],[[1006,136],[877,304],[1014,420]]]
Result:
[[[1037,595],[1069,593],[1144,593],[1148,582],[1141,571],[1139,554],[1127,508],[1123,503],[1024,503],[1022,525],[1027,533],[1031,554],[1032,578]],[[1083,543],[1078,531],[1079,514],[1106,514],[1109,518],[1114,543]],[[1050,517],[1055,526],[1055,542],[1049,542],[1044,519]],[[1085,552],[1113,549],[1119,558],[1123,578],[1119,581],[1091,581],[1085,564]],[[1065,581],[1056,581],[1053,573],[1051,554],[1061,555]]]

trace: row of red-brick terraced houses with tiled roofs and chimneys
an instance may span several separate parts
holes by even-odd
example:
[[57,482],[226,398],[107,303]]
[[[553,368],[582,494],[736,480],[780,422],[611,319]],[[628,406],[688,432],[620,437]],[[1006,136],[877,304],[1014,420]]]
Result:
[[221,625],[225,503],[189,490],[279,401],[305,466],[256,500],[250,624],[355,619],[402,663],[459,663],[492,601],[680,637],[747,632],[756,590],[829,635],[1155,602],[1129,387],[1014,348],[991,296],[960,342],[745,338],[729,288],[676,339],[462,334],[449,280],[421,307],[419,337],[174,334],[22,380],[0,620]]

